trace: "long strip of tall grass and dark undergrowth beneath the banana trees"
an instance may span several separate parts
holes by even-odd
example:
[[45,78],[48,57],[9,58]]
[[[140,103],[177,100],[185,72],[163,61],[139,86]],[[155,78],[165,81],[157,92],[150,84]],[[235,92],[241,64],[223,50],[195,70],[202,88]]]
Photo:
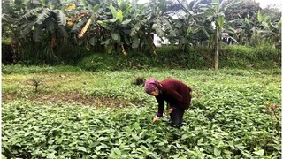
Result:
[[[189,48],[183,52],[177,46],[162,46],[156,55],[139,51],[105,53],[88,51],[70,42],[50,50],[27,48],[19,64],[71,64],[88,71],[157,68],[213,69],[214,50],[209,47]],[[45,52],[44,52],[45,51]],[[266,44],[251,48],[241,45],[224,46],[219,52],[220,68],[279,68],[281,51]]]

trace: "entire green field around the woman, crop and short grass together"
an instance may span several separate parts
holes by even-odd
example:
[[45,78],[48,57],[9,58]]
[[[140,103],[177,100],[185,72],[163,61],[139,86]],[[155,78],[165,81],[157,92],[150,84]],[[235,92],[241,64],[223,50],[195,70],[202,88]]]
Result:
[[[2,158],[280,158],[281,70],[4,66]],[[135,79],[193,87],[180,128]]]

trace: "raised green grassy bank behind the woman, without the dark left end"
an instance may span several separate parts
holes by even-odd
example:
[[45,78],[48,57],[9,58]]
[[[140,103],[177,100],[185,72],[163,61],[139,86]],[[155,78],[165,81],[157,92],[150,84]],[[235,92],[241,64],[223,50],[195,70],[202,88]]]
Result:
[[[182,52],[176,47],[157,48],[156,55],[145,55],[139,52],[122,54],[96,53],[84,57],[77,64],[88,71],[142,69],[150,67],[213,69],[214,51],[211,48],[190,48]],[[281,52],[271,46],[249,48],[244,46],[226,46],[220,51],[220,68],[279,68]]]

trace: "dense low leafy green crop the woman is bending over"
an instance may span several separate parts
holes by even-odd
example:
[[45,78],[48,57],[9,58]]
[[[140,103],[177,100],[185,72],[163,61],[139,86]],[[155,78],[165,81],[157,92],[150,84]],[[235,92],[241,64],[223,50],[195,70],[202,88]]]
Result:
[[[138,94],[137,96],[141,96]],[[157,106],[109,109],[17,100],[2,106],[6,158],[276,158],[280,91],[250,84],[195,87],[180,129]]]

